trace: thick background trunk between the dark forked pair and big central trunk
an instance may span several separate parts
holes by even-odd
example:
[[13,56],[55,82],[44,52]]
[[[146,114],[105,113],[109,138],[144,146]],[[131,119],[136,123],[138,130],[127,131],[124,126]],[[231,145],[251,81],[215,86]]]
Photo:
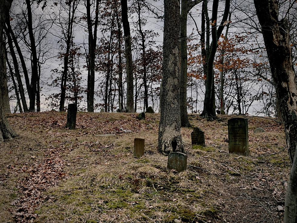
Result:
[[132,60],[132,49],[131,49],[131,34],[130,26],[128,21],[128,6],[127,0],[121,0],[122,7],[122,23],[124,29],[124,40],[125,40],[125,57],[126,57],[126,75],[127,75],[127,103],[126,112],[134,112],[134,94],[133,94],[133,60]]

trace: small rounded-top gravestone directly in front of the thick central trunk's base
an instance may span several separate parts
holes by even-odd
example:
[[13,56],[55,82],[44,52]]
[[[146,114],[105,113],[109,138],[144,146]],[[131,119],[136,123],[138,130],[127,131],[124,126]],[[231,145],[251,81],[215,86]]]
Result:
[[180,152],[173,152],[168,155],[167,168],[182,172],[187,169],[188,155]]

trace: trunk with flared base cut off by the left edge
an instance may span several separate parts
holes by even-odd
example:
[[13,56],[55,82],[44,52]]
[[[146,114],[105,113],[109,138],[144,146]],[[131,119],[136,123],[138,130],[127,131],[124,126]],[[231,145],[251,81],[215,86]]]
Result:
[[4,114],[4,101],[2,100],[2,90],[5,88],[6,76],[6,59],[4,53],[4,41],[3,41],[3,30],[5,25],[5,12],[9,12],[12,1],[0,0],[0,143],[6,139],[12,139],[16,136],[14,130],[8,123],[8,120]]

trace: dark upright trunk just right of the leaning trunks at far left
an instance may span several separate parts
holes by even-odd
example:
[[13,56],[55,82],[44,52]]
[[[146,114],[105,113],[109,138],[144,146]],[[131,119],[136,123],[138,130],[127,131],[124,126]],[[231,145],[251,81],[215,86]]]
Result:
[[31,66],[32,66],[32,76],[31,76],[31,98],[30,98],[30,106],[29,110],[31,112],[35,111],[35,99],[36,99],[36,93],[37,93],[37,79],[38,79],[38,59],[37,59],[37,51],[36,51],[36,45],[35,45],[35,37],[33,33],[33,27],[32,27],[32,9],[31,9],[31,1],[26,0],[27,5],[27,12],[28,18],[26,19],[27,27],[28,27],[28,33],[29,33],[29,39],[30,39],[30,45],[31,45]]

